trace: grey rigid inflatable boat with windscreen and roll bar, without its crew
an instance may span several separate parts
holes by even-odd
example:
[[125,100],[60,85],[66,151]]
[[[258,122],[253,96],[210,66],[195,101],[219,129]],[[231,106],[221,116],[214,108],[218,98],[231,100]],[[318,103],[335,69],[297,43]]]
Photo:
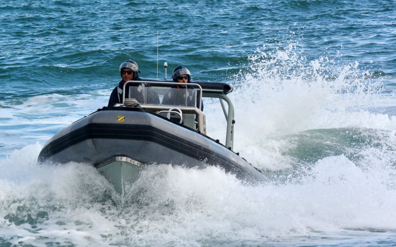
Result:
[[[232,150],[234,108],[227,96],[232,90],[223,82],[126,82],[122,104],[103,107],[57,132],[38,160],[94,165],[120,194],[142,168],[155,164],[215,165],[242,180],[265,181]],[[224,145],[206,135],[202,97],[221,104],[227,122]]]

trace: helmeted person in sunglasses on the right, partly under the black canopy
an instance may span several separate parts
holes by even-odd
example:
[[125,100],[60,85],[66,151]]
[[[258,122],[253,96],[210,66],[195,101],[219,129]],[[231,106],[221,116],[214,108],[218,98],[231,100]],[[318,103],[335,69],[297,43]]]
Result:
[[[186,67],[179,65],[177,66],[173,72],[172,72],[172,79],[173,82],[179,82],[179,83],[190,83],[191,81],[191,73],[189,69]],[[173,86],[174,88],[186,88],[185,85],[175,85]],[[194,86],[188,86],[188,88],[194,89]],[[185,102],[186,101],[186,90],[171,90],[168,93],[164,95],[164,98],[162,100],[162,104],[164,105],[180,105],[178,102]],[[190,95],[190,100],[187,95],[187,105],[194,105],[194,101],[192,100],[192,95]],[[198,100],[198,97],[197,97]],[[199,102],[197,102],[197,107],[199,105]],[[201,111],[203,110],[203,104],[201,102]]]

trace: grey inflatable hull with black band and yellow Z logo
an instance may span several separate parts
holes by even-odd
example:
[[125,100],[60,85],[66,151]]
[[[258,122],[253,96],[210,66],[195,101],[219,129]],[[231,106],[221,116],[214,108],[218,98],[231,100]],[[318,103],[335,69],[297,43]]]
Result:
[[[240,179],[266,179],[218,141],[139,108],[103,108],[74,122],[47,142],[39,161],[92,164],[121,187],[126,180],[136,179],[141,167],[150,164],[216,165]],[[122,188],[118,187],[120,192]]]

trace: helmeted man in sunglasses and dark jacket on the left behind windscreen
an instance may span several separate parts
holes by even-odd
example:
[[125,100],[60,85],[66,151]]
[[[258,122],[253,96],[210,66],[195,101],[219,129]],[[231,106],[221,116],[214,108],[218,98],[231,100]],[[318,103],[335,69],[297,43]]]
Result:
[[[121,73],[121,78],[122,80],[118,83],[118,86],[116,86],[113,91],[110,94],[110,99],[108,100],[108,107],[110,106],[114,106],[117,103],[122,103],[122,90],[124,88],[124,83],[128,82],[128,81],[141,81],[140,77],[139,77],[139,66],[138,64],[133,61],[133,60],[127,60],[125,62],[123,62],[120,65],[120,73]],[[130,84],[131,88],[137,88],[137,86],[139,86],[140,83],[133,83]],[[149,85],[145,84],[145,86],[148,88]],[[125,95],[128,95],[128,93],[126,92]],[[155,103],[155,104],[159,104],[159,97],[157,94],[155,94],[152,90],[148,90],[148,99],[147,101],[149,101],[150,103]],[[143,94],[141,92],[139,92],[139,95],[136,96],[136,100],[138,100],[139,102],[143,103],[144,102],[144,98],[143,98]]]

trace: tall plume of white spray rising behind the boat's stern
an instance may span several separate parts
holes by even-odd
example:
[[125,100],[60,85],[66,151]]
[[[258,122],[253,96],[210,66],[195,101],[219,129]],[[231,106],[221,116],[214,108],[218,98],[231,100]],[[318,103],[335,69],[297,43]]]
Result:
[[[384,86],[375,73],[357,62],[341,64],[336,58],[309,62],[295,45],[263,50],[249,57],[239,75],[243,83],[233,95],[235,149],[257,167],[290,167],[295,160],[285,152],[296,145],[291,136],[301,138],[305,131],[375,129],[377,139],[385,133],[387,139],[394,139],[396,119],[381,113]],[[323,133],[322,137],[327,141]]]

